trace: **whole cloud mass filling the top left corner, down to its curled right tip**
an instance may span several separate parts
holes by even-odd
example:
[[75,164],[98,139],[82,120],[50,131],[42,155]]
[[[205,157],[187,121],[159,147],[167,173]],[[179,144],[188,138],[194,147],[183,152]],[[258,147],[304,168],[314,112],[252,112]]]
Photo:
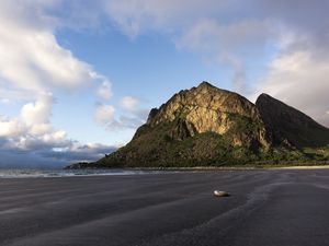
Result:
[[[56,39],[57,28],[70,27],[71,22],[77,22],[78,19],[60,15],[59,10],[63,11],[66,7],[78,8],[79,4],[78,1],[66,3],[63,0],[0,2],[2,98],[26,99],[29,94],[31,99],[41,91],[79,90],[91,85],[91,82],[100,83],[103,87],[107,85],[107,91],[104,89],[101,94],[111,97],[111,83],[107,78],[61,47]],[[79,13],[78,9],[71,10]],[[82,14],[83,11],[80,12]]]

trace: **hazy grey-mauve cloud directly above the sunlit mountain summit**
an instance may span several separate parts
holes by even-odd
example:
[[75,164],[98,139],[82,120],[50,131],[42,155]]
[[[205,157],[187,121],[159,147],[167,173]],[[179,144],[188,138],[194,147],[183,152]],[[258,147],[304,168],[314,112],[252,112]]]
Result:
[[242,20],[220,24],[216,20],[203,19],[183,32],[178,39],[179,47],[194,51],[226,54],[254,54],[261,50],[270,38],[270,28],[262,20]]

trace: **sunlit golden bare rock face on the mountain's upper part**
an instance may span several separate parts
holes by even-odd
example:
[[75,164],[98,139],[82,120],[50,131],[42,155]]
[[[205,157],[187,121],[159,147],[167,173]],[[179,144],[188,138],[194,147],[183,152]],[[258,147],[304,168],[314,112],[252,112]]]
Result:
[[[247,98],[204,81],[196,87],[174,94],[159,109],[154,108],[147,125],[156,127],[163,122],[175,121],[177,127],[172,130],[174,132],[172,136],[180,139],[204,132],[225,134],[236,127],[237,119],[242,118],[262,125],[257,107]],[[256,134],[261,145],[268,145],[263,129]],[[241,138],[243,137],[235,137],[232,140],[235,145],[243,143]]]

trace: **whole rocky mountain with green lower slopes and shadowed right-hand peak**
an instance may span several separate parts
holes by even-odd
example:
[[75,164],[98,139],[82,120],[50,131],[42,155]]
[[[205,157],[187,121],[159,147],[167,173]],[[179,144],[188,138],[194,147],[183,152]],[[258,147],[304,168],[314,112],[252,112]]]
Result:
[[[207,82],[174,94],[150,110],[132,141],[81,167],[184,167],[284,161],[321,161],[329,130],[303,113],[262,94],[252,104]],[[327,153],[327,152],[326,152]]]

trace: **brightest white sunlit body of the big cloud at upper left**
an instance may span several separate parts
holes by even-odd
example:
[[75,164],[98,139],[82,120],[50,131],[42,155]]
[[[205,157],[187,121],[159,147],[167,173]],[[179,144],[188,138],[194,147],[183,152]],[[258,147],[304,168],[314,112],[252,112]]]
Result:
[[52,30],[26,26],[2,15],[0,36],[0,77],[15,87],[77,89],[92,79],[91,67],[60,47]]

